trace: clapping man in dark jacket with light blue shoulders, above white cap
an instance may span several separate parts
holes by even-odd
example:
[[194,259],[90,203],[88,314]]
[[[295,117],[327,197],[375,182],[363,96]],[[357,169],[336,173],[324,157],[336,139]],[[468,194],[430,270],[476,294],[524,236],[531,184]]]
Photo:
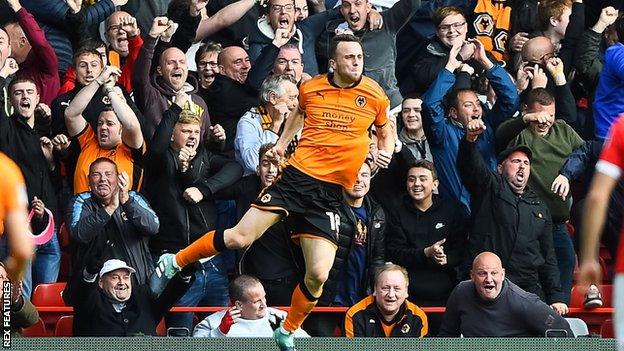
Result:
[[137,270],[135,282],[145,284],[154,269],[147,241],[158,232],[159,220],[145,198],[129,191],[128,185],[128,175],[118,173],[112,160],[100,157],[91,163],[91,190],[75,196],[69,206],[73,264],[82,269],[90,255],[101,252],[103,258],[131,262]]

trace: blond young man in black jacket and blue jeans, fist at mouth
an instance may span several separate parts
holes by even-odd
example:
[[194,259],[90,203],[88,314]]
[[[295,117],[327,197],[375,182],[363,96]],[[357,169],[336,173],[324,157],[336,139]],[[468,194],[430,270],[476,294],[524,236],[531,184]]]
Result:
[[[202,120],[182,110],[188,99],[185,93],[175,97],[174,104],[163,114],[146,156],[145,195],[161,219],[159,234],[150,241],[154,257],[177,252],[213,230],[217,222],[213,194],[242,175],[235,161],[214,155],[201,144]],[[202,300],[209,306],[228,304],[227,269],[222,260],[217,256],[202,262],[203,269],[196,272],[194,285],[179,305],[197,306]],[[192,318],[191,313],[176,313],[168,318],[167,326],[190,331]]]

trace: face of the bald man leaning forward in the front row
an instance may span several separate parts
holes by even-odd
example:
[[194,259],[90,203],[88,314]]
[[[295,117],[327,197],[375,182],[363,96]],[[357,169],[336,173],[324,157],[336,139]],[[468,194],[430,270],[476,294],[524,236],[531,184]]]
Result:
[[475,285],[477,294],[484,300],[493,300],[503,289],[505,270],[501,267],[500,260],[494,256],[482,256],[475,262],[470,271],[470,278]]

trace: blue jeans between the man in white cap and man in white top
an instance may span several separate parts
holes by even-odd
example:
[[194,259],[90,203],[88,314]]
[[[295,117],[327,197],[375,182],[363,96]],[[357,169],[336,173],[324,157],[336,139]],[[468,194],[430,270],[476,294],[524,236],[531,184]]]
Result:
[[[202,270],[195,272],[195,282],[180,298],[176,306],[228,306],[227,271],[221,268],[222,255],[217,255],[204,262]],[[193,313],[169,313],[166,317],[167,328],[188,328],[193,333]]]

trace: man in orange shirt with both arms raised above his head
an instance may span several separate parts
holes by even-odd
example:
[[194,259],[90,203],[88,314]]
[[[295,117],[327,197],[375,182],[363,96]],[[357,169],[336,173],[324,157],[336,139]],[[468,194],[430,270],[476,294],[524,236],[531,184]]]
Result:
[[[126,103],[115,82],[121,72],[108,66],[88,85],[82,88],[65,109],[65,125],[69,136],[76,138],[80,155],[74,172],[74,194],[89,190],[89,165],[99,157],[113,160],[121,172],[128,174],[130,189],[141,186],[143,169],[139,165],[145,152],[141,125],[134,111]],[[82,113],[98,90],[104,91],[110,106],[101,110],[97,130],[87,123]]]

